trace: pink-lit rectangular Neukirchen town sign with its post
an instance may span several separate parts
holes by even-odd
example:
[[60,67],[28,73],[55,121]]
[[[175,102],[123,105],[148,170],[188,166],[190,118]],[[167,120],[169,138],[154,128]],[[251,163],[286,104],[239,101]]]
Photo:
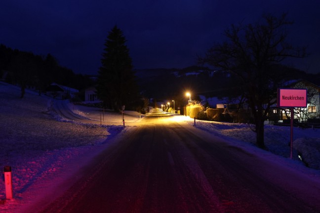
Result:
[[290,159],[292,159],[293,146],[293,119],[294,107],[307,107],[307,89],[278,89],[278,107],[290,107]]

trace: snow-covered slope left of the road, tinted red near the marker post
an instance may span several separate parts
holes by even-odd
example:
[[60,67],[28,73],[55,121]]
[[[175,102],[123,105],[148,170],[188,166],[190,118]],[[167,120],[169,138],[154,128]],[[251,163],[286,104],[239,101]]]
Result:
[[[92,120],[98,119],[97,124],[65,122],[67,120],[61,119],[52,111],[52,101],[49,97],[39,96],[29,90],[21,99],[20,88],[0,82],[0,168],[3,172],[4,166],[11,166],[14,193],[12,201],[4,202],[5,187],[2,177],[0,212],[10,212],[19,205],[32,202],[32,193],[26,197],[32,186],[40,180],[58,177],[72,159],[94,153],[96,149],[106,145],[108,139],[129,128],[123,128],[122,115],[114,112],[106,113],[105,120],[100,125],[100,115],[99,119],[91,116],[92,108],[79,111],[84,106],[74,108],[71,105],[76,112],[78,110]],[[138,114],[126,112],[124,118],[127,125],[137,122]],[[75,167],[74,172],[76,169],[79,166]]]

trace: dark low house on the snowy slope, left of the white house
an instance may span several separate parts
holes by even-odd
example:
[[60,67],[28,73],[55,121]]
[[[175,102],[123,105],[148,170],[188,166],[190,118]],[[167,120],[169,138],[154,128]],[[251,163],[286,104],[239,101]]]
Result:
[[46,95],[55,99],[75,98],[78,93],[79,90],[77,89],[59,85],[57,83],[52,83],[46,88]]

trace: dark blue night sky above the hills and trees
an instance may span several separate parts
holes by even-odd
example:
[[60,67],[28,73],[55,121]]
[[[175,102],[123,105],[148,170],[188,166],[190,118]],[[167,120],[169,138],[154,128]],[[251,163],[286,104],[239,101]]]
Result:
[[319,11],[319,0],[5,0],[0,43],[50,53],[75,73],[96,74],[105,39],[117,25],[135,69],[185,68],[222,41],[231,24],[253,23],[264,12],[287,12],[295,22],[289,41],[307,46],[311,54],[294,65],[318,73]]

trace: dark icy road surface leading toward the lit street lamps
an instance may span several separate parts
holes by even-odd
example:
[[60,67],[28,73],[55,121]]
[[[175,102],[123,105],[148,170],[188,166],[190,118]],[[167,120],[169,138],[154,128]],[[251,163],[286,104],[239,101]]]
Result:
[[[316,213],[319,179],[223,139],[147,116],[42,213]],[[35,209],[34,209],[35,210]]]

